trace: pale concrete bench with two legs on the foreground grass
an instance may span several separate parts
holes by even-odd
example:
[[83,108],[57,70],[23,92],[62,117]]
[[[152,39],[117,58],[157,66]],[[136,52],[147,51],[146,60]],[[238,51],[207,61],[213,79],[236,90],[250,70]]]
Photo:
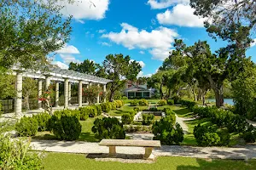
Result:
[[116,156],[116,146],[135,146],[144,147],[145,154],[143,159],[154,159],[152,150],[154,147],[160,147],[159,140],[129,140],[129,139],[102,139],[99,145],[109,147],[109,156]]

